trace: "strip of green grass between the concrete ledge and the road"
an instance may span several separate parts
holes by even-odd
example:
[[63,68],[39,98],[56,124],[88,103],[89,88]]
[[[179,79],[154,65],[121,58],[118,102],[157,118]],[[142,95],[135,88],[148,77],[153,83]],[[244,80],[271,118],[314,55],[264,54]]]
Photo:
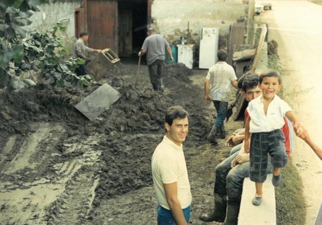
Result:
[[[268,68],[278,72],[283,79],[283,68],[277,55],[268,56]],[[283,88],[278,92],[282,99],[287,95]],[[292,132],[292,131],[290,131]],[[283,184],[275,188],[277,225],[304,225],[306,211],[302,180],[290,159],[282,169]]]

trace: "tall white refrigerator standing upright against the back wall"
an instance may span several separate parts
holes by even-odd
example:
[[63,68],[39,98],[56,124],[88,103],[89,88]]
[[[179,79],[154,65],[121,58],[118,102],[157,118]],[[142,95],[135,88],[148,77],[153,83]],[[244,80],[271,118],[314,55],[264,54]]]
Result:
[[199,48],[199,68],[209,69],[217,62],[219,29],[201,28]]

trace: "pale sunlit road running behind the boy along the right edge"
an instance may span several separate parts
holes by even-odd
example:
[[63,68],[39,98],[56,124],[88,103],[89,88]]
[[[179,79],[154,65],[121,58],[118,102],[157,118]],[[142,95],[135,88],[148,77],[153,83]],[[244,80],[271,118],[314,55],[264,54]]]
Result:
[[[262,13],[261,20],[269,24],[269,40],[279,44],[285,99],[322,146],[322,6],[300,0],[270,2],[272,10]],[[300,138],[295,137],[294,149],[293,164],[307,204],[305,224],[313,225],[322,199],[322,162]]]

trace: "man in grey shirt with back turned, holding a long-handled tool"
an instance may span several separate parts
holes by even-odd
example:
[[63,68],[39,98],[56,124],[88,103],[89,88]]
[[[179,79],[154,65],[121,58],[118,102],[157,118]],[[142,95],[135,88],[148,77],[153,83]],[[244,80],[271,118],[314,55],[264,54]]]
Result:
[[148,29],[148,37],[144,40],[139,56],[147,52],[147,62],[149,67],[150,81],[153,90],[163,91],[163,64],[165,60],[165,49],[169,53],[169,58],[173,61],[169,43],[153,28]]

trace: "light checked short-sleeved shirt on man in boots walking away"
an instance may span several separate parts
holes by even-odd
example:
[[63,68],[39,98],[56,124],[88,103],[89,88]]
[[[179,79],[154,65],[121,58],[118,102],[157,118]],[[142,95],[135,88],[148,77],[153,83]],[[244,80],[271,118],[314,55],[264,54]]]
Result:
[[230,84],[237,80],[232,66],[226,62],[218,61],[209,69],[206,79],[210,80],[211,99],[228,102]]

